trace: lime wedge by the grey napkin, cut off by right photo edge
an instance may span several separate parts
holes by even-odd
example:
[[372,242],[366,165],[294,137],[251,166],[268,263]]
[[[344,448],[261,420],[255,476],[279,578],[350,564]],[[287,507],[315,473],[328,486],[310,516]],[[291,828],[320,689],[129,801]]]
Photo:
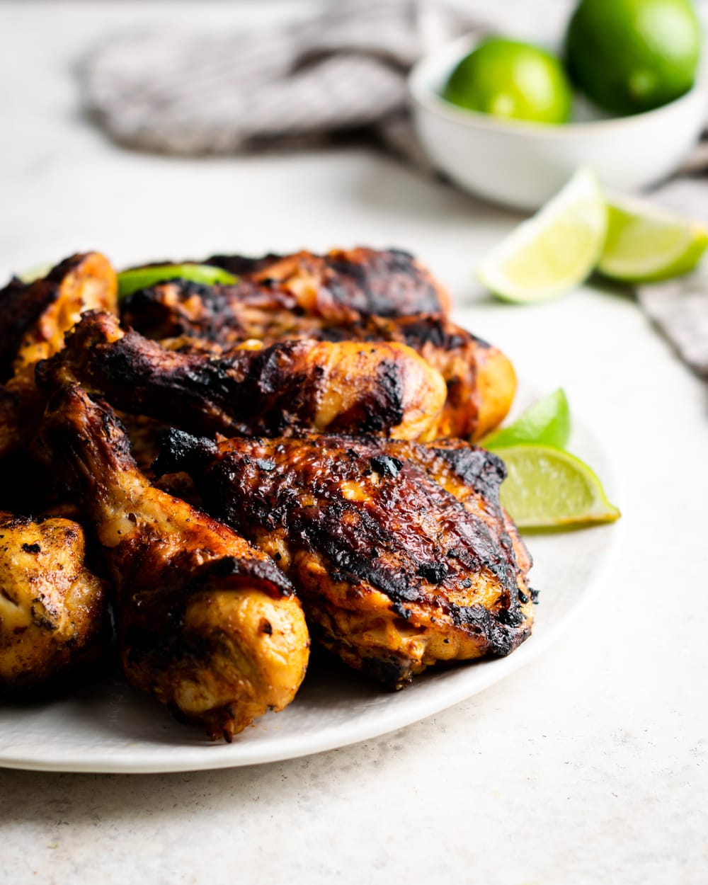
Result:
[[612,280],[650,282],[688,273],[708,247],[708,230],[627,197],[608,202],[607,239],[597,270]]

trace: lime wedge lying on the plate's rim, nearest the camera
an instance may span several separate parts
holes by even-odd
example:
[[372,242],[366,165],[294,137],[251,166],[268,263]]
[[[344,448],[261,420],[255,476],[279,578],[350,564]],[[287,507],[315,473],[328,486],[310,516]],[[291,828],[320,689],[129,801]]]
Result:
[[620,511],[607,500],[587,464],[544,445],[496,449],[508,471],[501,501],[520,528],[612,522]]

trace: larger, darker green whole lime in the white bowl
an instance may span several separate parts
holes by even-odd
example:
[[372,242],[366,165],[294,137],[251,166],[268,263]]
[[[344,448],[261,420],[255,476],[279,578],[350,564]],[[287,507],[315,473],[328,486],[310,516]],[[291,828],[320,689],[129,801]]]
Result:
[[650,111],[688,92],[700,49],[689,0],[581,0],[566,34],[573,81],[620,114]]

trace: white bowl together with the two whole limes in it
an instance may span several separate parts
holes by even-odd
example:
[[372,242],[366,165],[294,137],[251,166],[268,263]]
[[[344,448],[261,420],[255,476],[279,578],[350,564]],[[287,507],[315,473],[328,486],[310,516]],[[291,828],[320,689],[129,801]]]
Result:
[[470,35],[409,78],[419,141],[463,189],[537,209],[579,166],[605,187],[673,173],[708,119],[690,0],[581,0],[558,51]]

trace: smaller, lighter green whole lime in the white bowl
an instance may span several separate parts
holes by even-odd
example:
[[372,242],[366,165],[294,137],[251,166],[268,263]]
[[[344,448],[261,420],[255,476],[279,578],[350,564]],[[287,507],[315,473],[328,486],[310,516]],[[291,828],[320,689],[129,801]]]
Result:
[[489,37],[459,62],[443,98],[471,111],[565,123],[571,88],[562,65],[536,46]]

